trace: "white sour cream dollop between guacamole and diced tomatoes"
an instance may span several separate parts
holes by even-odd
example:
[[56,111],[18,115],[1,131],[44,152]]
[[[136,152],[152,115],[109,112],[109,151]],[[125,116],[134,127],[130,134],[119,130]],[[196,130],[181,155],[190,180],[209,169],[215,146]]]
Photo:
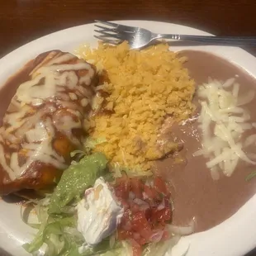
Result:
[[111,187],[104,178],[97,178],[78,202],[78,231],[88,245],[98,244],[116,230],[123,214]]

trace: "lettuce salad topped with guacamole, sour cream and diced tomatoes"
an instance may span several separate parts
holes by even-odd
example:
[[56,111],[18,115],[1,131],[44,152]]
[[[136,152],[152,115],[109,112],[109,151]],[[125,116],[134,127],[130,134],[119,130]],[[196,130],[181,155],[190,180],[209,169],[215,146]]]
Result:
[[23,245],[31,254],[45,248],[45,256],[164,255],[179,239],[168,184],[110,172],[102,153],[73,161],[52,194],[27,204],[39,220],[27,223],[37,229]]

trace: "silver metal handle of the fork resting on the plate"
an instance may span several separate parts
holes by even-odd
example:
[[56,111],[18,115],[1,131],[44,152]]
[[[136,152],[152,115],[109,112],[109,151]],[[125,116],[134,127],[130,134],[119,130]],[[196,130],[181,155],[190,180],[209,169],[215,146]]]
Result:
[[215,45],[256,46],[256,36],[193,36],[178,34],[156,34],[157,39],[188,40]]

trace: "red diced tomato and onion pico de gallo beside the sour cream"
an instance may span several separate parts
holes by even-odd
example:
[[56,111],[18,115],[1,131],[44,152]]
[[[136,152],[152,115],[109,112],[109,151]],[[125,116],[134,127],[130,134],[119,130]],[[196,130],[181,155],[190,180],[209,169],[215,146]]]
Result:
[[143,180],[122,173],[114,189],[125,210],[117,239],[130,243],[133,256],[140,256],[145,244],[169,239],[165,226],[172,220],[171,195],[162,178]]

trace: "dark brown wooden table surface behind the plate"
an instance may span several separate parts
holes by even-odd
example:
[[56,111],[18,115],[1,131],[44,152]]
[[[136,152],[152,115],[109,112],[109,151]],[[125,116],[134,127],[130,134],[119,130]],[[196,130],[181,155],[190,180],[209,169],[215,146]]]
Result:
[[[0,0],[0,58],[94,19],[169,21],[220,36],[256,36],[255,17],[255,0]],[[256,48],[247,50],[256,56]]]

